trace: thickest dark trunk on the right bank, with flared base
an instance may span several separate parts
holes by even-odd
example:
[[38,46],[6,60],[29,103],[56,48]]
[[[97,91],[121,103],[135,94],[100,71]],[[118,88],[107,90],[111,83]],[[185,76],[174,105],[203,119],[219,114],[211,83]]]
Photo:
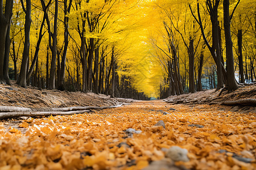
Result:
[[236,90],[238,88],[236,78],[234,75],[234,57],[233,57],[233,42],[230,33],[230,18],[229,18],[229,0],[223,2],[224,10],[224,29],[226,40],[226,74],[227,82],[226,86],[228,90]]

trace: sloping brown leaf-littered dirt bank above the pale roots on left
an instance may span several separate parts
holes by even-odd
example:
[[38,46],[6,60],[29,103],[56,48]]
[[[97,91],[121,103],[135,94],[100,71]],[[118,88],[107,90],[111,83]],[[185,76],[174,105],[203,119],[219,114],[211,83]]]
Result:
[[0,105],[26,107],[36,110],[41,108],[63,108],[73,106],[110,106],[126,100],[110,96],[83,92],[46,90],[40,88],[21,88],[16,85],[0,85]]

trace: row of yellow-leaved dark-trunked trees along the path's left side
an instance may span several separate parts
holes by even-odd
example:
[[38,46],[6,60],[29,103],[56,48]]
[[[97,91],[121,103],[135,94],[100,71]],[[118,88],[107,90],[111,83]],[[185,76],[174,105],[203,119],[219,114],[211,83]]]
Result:
[[1,83],[10,84],[10,54],[14,77],[21,87],[31,84],[148,99],[133,86],[131,75],[117,74],[121,69],[118,60],[131,46],[121,46],[120,41],[137,22],[127,22],[129,14],[136,12],[130,10],[136,4],[112,0],[2,1],[1,22],[5,23],[0,24],[0,48],[5,50],[0,56]]

